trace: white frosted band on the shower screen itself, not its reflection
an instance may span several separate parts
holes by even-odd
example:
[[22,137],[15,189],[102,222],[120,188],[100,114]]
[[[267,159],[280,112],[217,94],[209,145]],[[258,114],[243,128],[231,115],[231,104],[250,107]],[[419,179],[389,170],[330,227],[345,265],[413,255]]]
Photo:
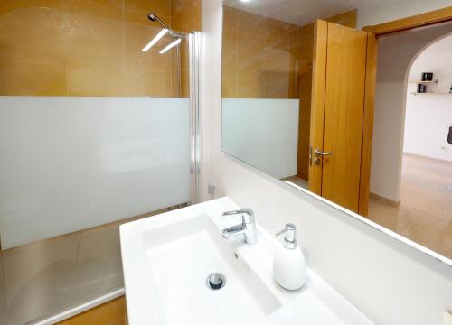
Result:
[[0,98],[0,236],[24,245],[187,202],[188,98]]

